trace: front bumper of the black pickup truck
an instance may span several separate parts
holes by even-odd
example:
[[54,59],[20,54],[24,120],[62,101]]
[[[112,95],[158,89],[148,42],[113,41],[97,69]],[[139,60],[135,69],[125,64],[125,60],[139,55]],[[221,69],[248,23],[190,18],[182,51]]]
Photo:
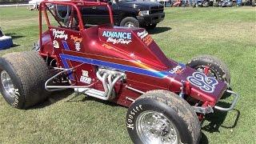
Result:
[[142,26],[157,24],[165,18],[165,13],[149,14],[144,16],[137,16],[138,22]]

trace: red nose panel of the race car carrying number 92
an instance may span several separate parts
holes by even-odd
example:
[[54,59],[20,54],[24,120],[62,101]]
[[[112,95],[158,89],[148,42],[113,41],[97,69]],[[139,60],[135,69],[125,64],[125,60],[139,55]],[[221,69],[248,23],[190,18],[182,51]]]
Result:
[[190,83],[190,96],[203,102],[208,101],[213,105],[218,102],[227,88],[225,82],[218,81],[216,78],[207,76],[188,66],[176,66],[169,71],[171,72],[169,77],[174,78],[173,81],[180,86],[182,86],[182,82]]

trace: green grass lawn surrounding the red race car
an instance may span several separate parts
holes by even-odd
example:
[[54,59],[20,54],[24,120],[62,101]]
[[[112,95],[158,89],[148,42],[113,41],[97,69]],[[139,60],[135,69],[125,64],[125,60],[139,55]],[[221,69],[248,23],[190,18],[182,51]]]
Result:
[[[1,7],[0,26],[15,44],[0,56],[30,50],[38,41],[37,11]],[[234,111],[206,117],[201,142],[255,143],[255,7],[166,8],[165,20],[150,33],[178,62],[212,54],[230,67],[231,87],[241,98]],[[131,143],[125,118],[125,107],[68,92],[30,110],[16,110],[0,97],[0,143]]]

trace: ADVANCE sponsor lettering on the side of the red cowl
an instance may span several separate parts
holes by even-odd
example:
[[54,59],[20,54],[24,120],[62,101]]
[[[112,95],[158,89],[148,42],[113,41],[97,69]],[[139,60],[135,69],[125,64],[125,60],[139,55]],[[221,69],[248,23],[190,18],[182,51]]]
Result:
[[106,37],[106,42],[111,42],[113,44],[126,44],[128,45],[132,39],[131,33],[126,32],[116,32],[116,31],[103,31],[103,37]]

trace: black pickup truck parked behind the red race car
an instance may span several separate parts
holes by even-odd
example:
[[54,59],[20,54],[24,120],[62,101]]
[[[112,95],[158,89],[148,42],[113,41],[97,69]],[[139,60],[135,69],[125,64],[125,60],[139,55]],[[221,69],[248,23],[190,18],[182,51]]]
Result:
[[[154,29],[165,18],[164,6],[158,2],[139,2],[136,0],[101,0],[112,6],[116,26],[144,27]],[[82,8],[84,22],[100,25],[109,22],[106,6]]]

